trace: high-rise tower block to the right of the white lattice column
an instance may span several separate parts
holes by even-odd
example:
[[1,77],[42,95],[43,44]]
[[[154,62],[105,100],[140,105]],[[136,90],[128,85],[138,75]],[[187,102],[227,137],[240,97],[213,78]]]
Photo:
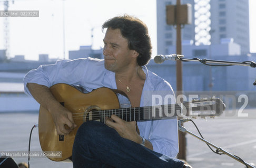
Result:
[[250,53],[249,1],[211,1],[212,43],[221,38],[233,38],[241,46],[241,53]]

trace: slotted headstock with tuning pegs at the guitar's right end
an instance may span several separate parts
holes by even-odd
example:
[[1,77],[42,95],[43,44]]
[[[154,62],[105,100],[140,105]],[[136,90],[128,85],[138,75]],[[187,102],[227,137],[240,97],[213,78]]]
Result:
[[[225,110],[225,104],[219,98],[204,98],[186,102],[188,116],[195,117],[215,117],[220,116]],[[185,104],[185,103],[184,103]],[[187,116],[187,115],[186,115]]]

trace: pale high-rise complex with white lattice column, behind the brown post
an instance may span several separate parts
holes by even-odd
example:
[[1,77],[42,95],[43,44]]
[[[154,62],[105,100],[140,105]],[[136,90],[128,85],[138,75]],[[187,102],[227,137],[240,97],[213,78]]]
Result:
[[[168,47],[175,46],[176,30],[174,26],[167,25],[165,22],[166,5],[175,4],[176,0],[156,1],[158,54],[172,54],[169,53]],[[193,20],[191,25],[184,25],[182,29],[182,40],[193,40],[193,43],[196,44],[198,38],[195,38],[195,36],[198,35],[198,29],[195,29],[195,27],[198,25],[200,17],[202,17],[202,23],[206,24],[204,25],[205,29],[203,33],[211,44],[220,44],[222,38],[233,38],[234,43],[241,46],[241,54],[250,53],[248,0],[201,0],[196,1],[196,3],[194,0],[183,0],[182,4],[192,5]],[[210,10],[210,16],[208,10]],[[210,25],[210,28],[207,24]],[[201,43],[196,45],[201,45]]]

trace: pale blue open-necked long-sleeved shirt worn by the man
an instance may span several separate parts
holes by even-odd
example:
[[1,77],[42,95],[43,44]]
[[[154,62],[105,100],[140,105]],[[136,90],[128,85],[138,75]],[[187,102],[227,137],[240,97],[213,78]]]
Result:
[[[164,104],[165,95],[174,95],[171,85],[142,67],[146,74],[140,106],[152,106],[156,103]],[[87,91],[100,87],[117,89],[115,73],[106,70],[104,60],[85,58],[75,60],[60,60],[54,65],[41,65],[29,71],[24,78],[24,90],[31,96],[27,83],[37,83],[51,87],[56,83],[79,85]],[[162,102],[152,101],[152,95],[161,95]],[[159,99],[157,99],[158,101]],[[169,101],[170,102],[170,101]],[[140,135],[149,140],[153,150],[175,157],[179,152],[177,119],[138,121]]]

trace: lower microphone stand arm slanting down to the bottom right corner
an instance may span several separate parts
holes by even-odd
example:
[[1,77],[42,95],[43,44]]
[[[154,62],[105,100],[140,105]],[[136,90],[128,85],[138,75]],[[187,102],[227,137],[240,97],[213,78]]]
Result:
[[[188,121],[188,120],[187,120],[187,121]],[[186,121],[183,121],[183,122],[186,122]],[[223,150],[222,148],[220,148],[220,147],[218,147],[218,146],[212,144],[211,142],[208,142],[208,141],[206,141],[205,139],[203,139],[203,138],[201,138],[201,137],[198,137],[198,135],[195,135],[194,133],[192,133],[192,132],[186,130],[186,128],[183,127],[183,126],[181,125],[181,123],[182,123],[182,121],[179,120],[179,122],[178,122],[178,128],[179,128],[180,131],[189,133],[189,134],[192,135],[193,137],[195,137],[195,138],[197,138],[197,139],[199,139],[199,140],[205,142],[206,144],[211,145],[213,148],[216,149],[216,151],[218,151],[218,152],[221,151],[222,153],[224,153],[224,154],[230,156],[231,158],[233,158],[234,160],[237,160],[237,161],[239,161],[240,163],[245,164],[247,167],[256,168],[256,167],[250,165],[250,164],[247,163],[247,162],[241,161],[240,158],[238,158],[238,156],[235,156],[235,155],[233,155],[232,153],[229,153],[228,151],[225,151],[225,150]]]

